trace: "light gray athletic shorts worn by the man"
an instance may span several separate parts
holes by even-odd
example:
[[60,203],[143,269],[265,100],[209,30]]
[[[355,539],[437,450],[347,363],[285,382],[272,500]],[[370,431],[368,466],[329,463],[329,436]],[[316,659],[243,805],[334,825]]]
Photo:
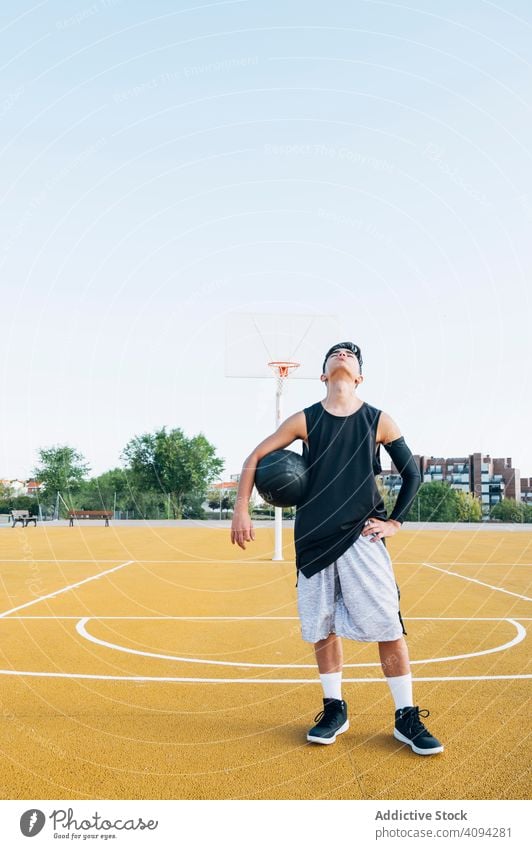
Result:
[[321,572],[311,578],[300,572],[297,606],[301,634],[309,643],[329,634],[374,643],[405,633],[392,561],[382,540],[359,536]]

